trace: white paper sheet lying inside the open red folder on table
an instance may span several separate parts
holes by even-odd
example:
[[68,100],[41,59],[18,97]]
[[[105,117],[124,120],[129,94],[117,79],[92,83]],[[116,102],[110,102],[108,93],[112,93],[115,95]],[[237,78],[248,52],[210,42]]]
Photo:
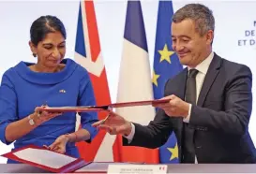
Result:
[[76,160],[76,158],[69,157],[67,155],[57,152],[32,148],[27,148],[19,152],[14,152],[13,154],[23,160],[27,160],[33,163],[37,163],[38,165],[52,168],[64,167]]

